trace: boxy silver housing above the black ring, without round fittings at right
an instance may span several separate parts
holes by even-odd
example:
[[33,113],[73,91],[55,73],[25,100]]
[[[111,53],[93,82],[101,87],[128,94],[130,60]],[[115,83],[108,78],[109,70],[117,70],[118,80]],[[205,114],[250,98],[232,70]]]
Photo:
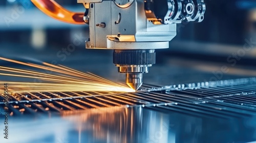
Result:
[[[90,1],[85,1],[90,3]],[[85,4],[84,3],[84,4]],[[154,25],[146,18],[144,1],[129,1],[126,8],[117,6],[114,1],[91,3],[89,9],[90,41],[87,48],[95,49],[163,49],[168,48],[168,41],[176,36],[176,24]],[[102,14],[104,13],[104,14]],[[97,27],[98,23],[105,23],[105,28]],[[118,42],[131,45],[114,45]],[[114,40],[113,40],[114,39]],[[110,41],[109,41],[110,40]],[[150,42],[150,43],[147,43]],[[163,43],[160,43],[163,42]]]

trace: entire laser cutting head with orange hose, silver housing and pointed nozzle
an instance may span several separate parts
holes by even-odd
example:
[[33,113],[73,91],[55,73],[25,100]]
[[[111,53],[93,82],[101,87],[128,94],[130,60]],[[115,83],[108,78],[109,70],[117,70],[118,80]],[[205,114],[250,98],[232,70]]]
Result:
[[88,23],[87,49],[111,49],[118,72],[134,90],[142,85],[142,75],[156,63],[157,49],[169,47],[176,36],[176,25],[201,22],[203,0],[78,0],[84,13],[63,9],[54,1],[31,0],[40,10],[56,19]]

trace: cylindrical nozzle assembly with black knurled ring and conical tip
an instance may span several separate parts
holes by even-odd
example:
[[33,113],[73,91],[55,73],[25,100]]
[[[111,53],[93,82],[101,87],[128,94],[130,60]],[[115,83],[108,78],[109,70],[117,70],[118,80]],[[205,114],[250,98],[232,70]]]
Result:
[[126,74],[126,84],[134,90],[142,85],[142,74],[156,63],[155,50],[114,50],[113,63]]

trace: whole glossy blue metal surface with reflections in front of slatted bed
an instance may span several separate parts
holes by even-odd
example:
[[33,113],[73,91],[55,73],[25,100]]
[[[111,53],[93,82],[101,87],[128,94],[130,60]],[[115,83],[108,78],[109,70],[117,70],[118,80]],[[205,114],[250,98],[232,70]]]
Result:
[[[62,117],[11,118],[11,142],[248,142],[255,117],[198,116],[143,107],[65,111]],[[2,138],[1,138],[2,139]],[[1,140],[0,139],[0,140]]]

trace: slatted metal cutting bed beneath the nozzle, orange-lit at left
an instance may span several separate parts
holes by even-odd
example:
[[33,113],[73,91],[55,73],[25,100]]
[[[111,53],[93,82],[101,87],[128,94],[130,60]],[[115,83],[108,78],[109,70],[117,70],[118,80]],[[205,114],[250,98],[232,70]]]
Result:
[[[157,86],[144,84],[138,92],[25,92],[10,94],[12,116],[61,113],[102,107],[141,106],[162,112],[209,114],[221,117],[256,115],[256,78]],[[1,112],[4,97],[0,96]]]

